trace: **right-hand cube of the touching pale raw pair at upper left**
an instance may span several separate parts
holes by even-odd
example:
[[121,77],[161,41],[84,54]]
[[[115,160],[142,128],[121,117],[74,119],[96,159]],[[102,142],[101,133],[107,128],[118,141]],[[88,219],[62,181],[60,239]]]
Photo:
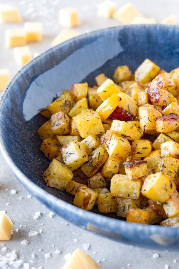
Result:
[[26,22],[24,23],[24,30],[27,42],[42,40],[42,24],[40,22]]

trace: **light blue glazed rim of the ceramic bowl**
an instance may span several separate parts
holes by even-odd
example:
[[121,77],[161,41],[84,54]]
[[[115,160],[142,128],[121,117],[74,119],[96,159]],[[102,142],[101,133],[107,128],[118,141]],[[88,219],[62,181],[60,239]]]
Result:
[[[124,28],[135,28],[135,27],[155,27],[155,28],[178,28],[179,26],[177,25],[161,25],[161,24],[152,24],[152,25],[121,25],[121,26],[115,26],[115,27],[108,27],[108,28],[103,28],[103,29],[98,29],[94,30],[88,33],[81,34],[79,36],[76,36],[72,39],[68,39],[52,48],[49,48],[48,50],[44,51],[37,57],[33,58],[30,60],[27,64],[25,64],[20,70],[11,78],[10,82],[7,84],[6,88],[4,89],[1,98],[0,98],[0,120],[2,115],[2,106],[3,106],[3,101],[7,95],[7,93],[11,90],[11,86],[13,83],[18,80],[18,77],[20,77],[25,71],[27,71],[28,68],[31,68],[33,64],[37,62],[38,59],[41,59],[51,52],[55,52],[56,50],[60,50],[61,47],[73,43],[76,40],[84,40],[88,37],[95,37],[98,34],[103,34],[105,32],[109,32],[111,30],[121,30]],[[2,128],[2,127],[1,127]],[[168,234],[171,235],[175,231],[175,235],[179,235],[179,229],[174,229],[173,227],[164,227],[164,226],[159,226],[159,225],[143,225],[143,224],[137,224],[137,223],[132,223],[132,222],[127,222],[124,220],[120,219],[115,219],[115,218],[110,218],[104,215],[100,215],[97,213],[93,213],[90,211],[83,210],[81,208],[76,207],[73,204],[69,204],[66,201],[61,200],[60,198],[57,198],[56,196],[50,194],[46,190],[42,189],[38,185],[36,185],[33,181],[30,180],[14,163],[13,159],[10,157],[10,155],[7,152],[6,146],[4,144],[2,135],[1,135],[1,128],[0,128],[0,150],[2,152],[2,155],[6,161],[6,163],[10,166],[12,172],[15,174],[15,176],[18,178],[18,180],[28,189],[30,193],[33,194],[37,199],[42,199],[43,201],[48,200],[51,206],[46,205],[47,207],[50,207],[51,209],[56,212],[55,207],[58,208],[58,210],[66,210],[68,214],[74,213],[77,217],[80,217],[84,222],[88,222],[90,224],[97,225],[101,228],[109,228],[109,231],[115,232],[116,229],[119,229],[118,231],[120,232],[121,230],[126,230],[129,231],[132,229],[138,230],[138,231],[143,231],[146,234],[153,234],[153,233],[158,233],[158,234]],[[85,227],[87,228],[87,227]]]

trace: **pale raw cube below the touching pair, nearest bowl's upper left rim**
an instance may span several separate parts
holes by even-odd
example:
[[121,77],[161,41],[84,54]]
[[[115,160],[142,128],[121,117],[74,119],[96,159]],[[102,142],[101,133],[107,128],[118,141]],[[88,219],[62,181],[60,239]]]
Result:
[[25,65],[32,59],[32,54],[28,46],[14,48],[14,58],[18,65]]

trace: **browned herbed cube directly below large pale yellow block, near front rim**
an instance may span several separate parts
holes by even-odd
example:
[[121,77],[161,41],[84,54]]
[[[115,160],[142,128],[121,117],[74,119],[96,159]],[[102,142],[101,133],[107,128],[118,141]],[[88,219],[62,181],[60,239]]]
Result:
[[140,208],[140,199],[117,198],[117,215],[126,218],[127,211],[131,208]]

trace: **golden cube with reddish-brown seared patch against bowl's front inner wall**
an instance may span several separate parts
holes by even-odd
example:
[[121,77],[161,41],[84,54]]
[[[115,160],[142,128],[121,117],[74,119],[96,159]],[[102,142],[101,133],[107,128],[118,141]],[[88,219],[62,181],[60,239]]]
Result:
[[82,209],[91,210],[95,205],[97,197],[98,193],[94,190],[87,187],[79,187],[75,194],[73,204]]

